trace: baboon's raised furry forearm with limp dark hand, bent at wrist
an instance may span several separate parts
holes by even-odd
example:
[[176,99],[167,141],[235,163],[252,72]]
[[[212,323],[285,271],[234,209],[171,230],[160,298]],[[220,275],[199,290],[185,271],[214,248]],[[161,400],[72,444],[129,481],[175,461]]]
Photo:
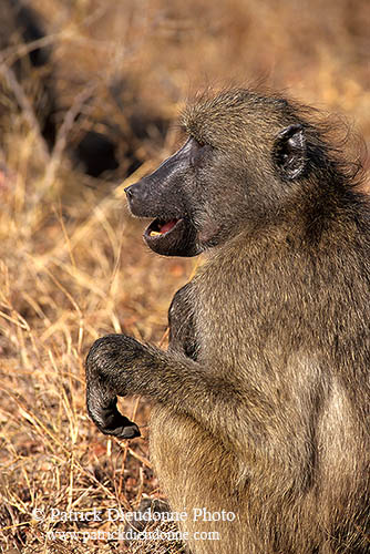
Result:
[[[141,394],[164,403],[196,420],[209,433],[237,450],[245,450],[240,438],[256,432],[245,398],[222,377],[175,351],[144,346],[125,335],[110,335],[95,341],[86,360],[88,409],[97,427],[121,435],[122,416],[115,397]],[[105,421],[109,424],[105,424]],[[116,428],[115,428],[116,421]],[[245,433],[240,428],[247,427]],[[257,425],[258,427],[258,425]]]

